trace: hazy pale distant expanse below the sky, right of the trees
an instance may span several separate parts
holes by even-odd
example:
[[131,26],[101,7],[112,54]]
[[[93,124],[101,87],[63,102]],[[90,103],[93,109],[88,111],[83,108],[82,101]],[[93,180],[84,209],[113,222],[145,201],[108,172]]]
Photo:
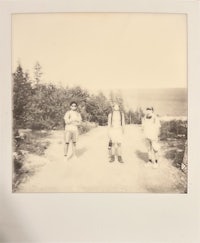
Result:
[[187,89],[121,90],[121,94],[133,110],[153,106],[160,116],[187,116]]

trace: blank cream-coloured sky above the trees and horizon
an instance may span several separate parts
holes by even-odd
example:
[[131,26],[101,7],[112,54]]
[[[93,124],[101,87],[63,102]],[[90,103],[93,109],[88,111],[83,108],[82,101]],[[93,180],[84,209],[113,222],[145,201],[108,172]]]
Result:
[[88,89],[187,86],[184,14],[58,13],[12,17],[12,67]]

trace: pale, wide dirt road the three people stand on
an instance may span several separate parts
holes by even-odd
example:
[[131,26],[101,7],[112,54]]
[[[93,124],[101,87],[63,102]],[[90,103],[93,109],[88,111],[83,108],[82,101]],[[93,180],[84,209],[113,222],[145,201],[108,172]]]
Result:
[[44,156],[28,155],[31,164],[43,163],[18,192],[153,192],[183,193],[185,176],[160,153],[158,168],[145,167],[146,148],[141,127],[127,126],[124,164],[108,162],[106,127],[81,135],[78,158],[63,156],[63,132],[53,131]]

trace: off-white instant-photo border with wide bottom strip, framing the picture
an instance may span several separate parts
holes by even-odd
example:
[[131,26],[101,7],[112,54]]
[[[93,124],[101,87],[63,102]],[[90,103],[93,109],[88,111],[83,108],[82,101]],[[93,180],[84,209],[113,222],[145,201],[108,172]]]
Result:
[[[12,193],[11,15],[183,13],[188,19],[188,193]],[[199,2],[0,1],[0,242],[200,242]]]

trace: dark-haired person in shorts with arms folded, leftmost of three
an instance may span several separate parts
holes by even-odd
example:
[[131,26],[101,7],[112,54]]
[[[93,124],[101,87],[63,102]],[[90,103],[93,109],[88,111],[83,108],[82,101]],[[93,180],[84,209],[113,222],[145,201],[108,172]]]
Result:
[[68,155],[69,143],[72,142],[72,155],[76,157],[76,142],[78,138],[78,126],[81,124],[81,115],[77,111],[77,103],[70,103],[70,110],[64,116],[65,132],[64,132],[64,156]]

